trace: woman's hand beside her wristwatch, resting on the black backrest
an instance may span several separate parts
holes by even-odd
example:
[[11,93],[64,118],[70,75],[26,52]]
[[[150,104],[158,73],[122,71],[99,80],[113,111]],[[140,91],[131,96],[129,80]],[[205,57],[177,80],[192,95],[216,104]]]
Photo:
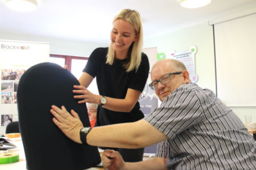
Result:
[[79,104],[81,103],[96,103],[96,104],[100,104],[100,95],[94,95],[92,94],[89,90],[87,90],[87,88],[85,88],[84,86],[78,86],[75,85],[73,86],[74,88],[78,89],[78,90],[73,90],[73,93],[75,94],[80,94],[80,95],[75,95],[74,98],[75,99],[81,99],[79,100]]

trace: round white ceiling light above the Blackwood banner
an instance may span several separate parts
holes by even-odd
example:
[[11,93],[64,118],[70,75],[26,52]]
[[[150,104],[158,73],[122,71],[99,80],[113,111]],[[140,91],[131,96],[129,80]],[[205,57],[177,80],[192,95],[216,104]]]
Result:
[[7,7],[15,11],[30,12],[36,10],[38,1],[36,0],[6,0]]

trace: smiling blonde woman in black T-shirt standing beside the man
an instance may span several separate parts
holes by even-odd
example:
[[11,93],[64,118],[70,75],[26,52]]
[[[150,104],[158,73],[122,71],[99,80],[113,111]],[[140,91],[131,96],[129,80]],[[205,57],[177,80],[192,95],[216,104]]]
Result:
[[[142,53],[143,30],[141,16],[135,10],[120,11],[113,19],[109,48],[95,49],[88,59],[79,82],[74,86],[74,97],[79,103],[96,103],[96,126],[135,122],[144,114],[139,109],[141,95],[149,72],[149,62]],[[96,77],[98,92],[87,87]],[[143,158],[144,148],[118,150],[127,162]]]

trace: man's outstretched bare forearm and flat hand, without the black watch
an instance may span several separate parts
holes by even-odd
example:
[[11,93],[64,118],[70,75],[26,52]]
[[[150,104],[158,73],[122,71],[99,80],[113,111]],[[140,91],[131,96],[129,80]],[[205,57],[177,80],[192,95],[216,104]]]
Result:
[[[65,107],[60,109],[52,106],[51,113],[54,116],[53,122],[67,137],[77,143],[82,143],[80,130],[84,126],[75,111],[72,110],[71,115]],[[86,137],[89,145],[118,148],[141,148],[166,139],[166,135],[145,120],[96,127],[90,130]]]

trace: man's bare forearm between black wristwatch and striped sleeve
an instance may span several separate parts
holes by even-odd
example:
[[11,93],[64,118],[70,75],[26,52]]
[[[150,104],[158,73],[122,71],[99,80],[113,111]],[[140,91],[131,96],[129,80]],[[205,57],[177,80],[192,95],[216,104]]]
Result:
[[145,120],[93,128],[87,135],[89,145],[142,148],[166,140],[167,137]]

